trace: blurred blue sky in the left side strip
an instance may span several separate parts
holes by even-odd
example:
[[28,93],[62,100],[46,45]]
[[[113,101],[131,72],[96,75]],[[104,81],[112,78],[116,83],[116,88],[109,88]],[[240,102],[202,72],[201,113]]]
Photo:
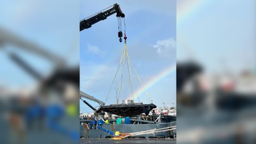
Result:
[[[78,65],[78,1],[3,1],[0,12],[4,14],[4,17],[0,17],[1,29],[11,31],[20,39],[65,59],[69,66]],[[0,45],[0,86],[24,89],[38,85],[36,79],[10,60],[7,52],[17,53],[43,76],[49,75],[53,70],[52,61],[19,48],[12,44]]]

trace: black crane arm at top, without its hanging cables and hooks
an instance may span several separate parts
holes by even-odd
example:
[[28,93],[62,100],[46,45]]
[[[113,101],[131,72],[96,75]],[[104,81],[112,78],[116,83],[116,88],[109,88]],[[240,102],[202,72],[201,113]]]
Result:
[[116,17],[121,17],[121,18],[124,18],[125,15],[124,13],[122,13],[120,7],[118,4],[114,4],[113,7],[109,10],[106,10],[104,12],[100,12],[96,15],[94,15],[93,17],[90,17],[88,19],[83,19],[80,21],[80,31],[84,30],[84,29],[87,29],[87,28],[90,28],[94,23],[97,23],[101,20],[105,20],[107,19],[107,17],[109,15],[112,15],[116,13]]

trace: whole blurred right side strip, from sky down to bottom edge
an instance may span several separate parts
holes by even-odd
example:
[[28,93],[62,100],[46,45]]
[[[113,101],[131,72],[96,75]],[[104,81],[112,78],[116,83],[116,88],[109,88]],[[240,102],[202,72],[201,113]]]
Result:
[[177,143],[256,143],[256,2],[177,1]]

